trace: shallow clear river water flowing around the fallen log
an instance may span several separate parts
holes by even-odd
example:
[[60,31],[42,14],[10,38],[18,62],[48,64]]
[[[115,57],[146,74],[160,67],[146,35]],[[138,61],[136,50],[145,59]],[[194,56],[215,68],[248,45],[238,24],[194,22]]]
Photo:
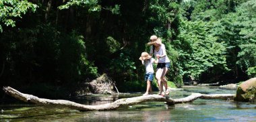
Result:
[[[173,90],[170,97],[176,99],[187,97],[191,93],[235,94],[235,92],[234,89],[218,87],[188,87]],[[99,105],[142,94],[92,95],[77,97],[72,101],[84,105]],[[163,102],[146,102],[113,111],[87,112],[20,103],[1,105],[0,121],[256,121],[256,103],[197,99],[192,103],[172,106]]]

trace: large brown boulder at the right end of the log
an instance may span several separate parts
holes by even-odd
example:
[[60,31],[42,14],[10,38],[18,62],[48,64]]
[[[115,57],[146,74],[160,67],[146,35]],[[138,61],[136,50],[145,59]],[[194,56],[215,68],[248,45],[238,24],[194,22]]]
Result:
[[256,99],[256,78],[241,83],[236,90],[235,101],[254,101]]

